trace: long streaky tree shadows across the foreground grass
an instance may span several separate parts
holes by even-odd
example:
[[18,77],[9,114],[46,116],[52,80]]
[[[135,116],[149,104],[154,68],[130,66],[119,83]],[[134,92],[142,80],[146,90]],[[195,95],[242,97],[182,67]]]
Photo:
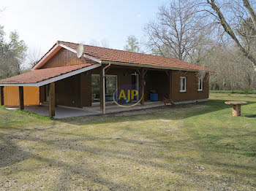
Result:
[[[35,132],[36,133],[36,132]],[[242,171],[246,171],[248,169],[253,169],[253,171],[256,171],[254,163],[249,163],[246,165],[233,165],[231,163],[222,163],[215,161],[214,163],[209,162],[207,160],[198,160],[195,158],[189,158],[189,157],[177,157],[173,156],[173,152],[198,152],[197,148],[192,148],[191,146],[191,139],[183,139],[183,140],[173,140],[169,139],[166,141],[163,141],[161,139],[154,139],[151,138],[150,141],[138,141],[136,139],[111,139],[109,137],[100,137],[100,136],[79,136],[79,135],[73,135],[72,138],[67,138],[67,136],[63,136],[61,139],[48,139],[46,134],[50,135],[59,135],[58,127],[53,130],[53,128],[45,129],[45,135],[38,137],[34,137],[33,135],[15,135],[15,134],[8,134],[8,133],[0,133],[1,140],[4,140],[4,149],[1,148],[1,160],[0,160],[0,167],[4,166],[11,166],[15,163],[20,163],[23,160],[27,159],[36,159],[39,161],[42,161],[44,163],[47,163],[47,165],[40,165],[38,166],[31,166],[29,169],[30,171],[34,171],[37,168],[42,168],[42,171],[44,171],[44,168],[61,168],[62,172],[59,176],[59,181],[56,182],[55,188],[59,190],[68,190],[68,182],[70,179],[72,179],[75,176],[81,176],[85,179],[89,179],[91,182],[94,182],[95,184],[101,184],[108,188],[113,188],[114,190],[130,190],[131,188],[136,189],[134,185],[124,184],[121,182],[113,183],[110,179],[105,179],[103,176],[100,176],[99,171],[101,171],[101,168],[92,168],[89,164],[84,164],[83,158],[79,159],[76,157],[71,156],[70,160],[73,160],[73,163],[66,163],[61,158],[52,158],[49,156],[42,156],[42,155],[35,155],[33,152],[27,152],[23,151],[20,147],[18,147],[17,144],[15,144],[15,140],[20,141],[36,141],[42,144],[47,144],[51,152],[61,151],[61,152],[69,152],[72,151],[80,151],[84,152],[83,155],[94,155],[94,158],[97,157],[100,159],[102,156],[104,158],[108,158],[108,160],[119,160],[119,161],[126,161],[125,163],[138,163],[143,166],[147,166],[148,168],[162,168],[162,170],[165,171],[175,171],[176,174],[179,174],[180,176],[184,177],[186,176],[187,179],[194,179],[195,181],[200,181],[201,186],[204,186],[204,184],[207,184],[206,182],[206,173],[199,174],[197,170],[195,170],[195,165],[200,163],[200,165],[216,165],[219,167],[219,173],[227,173],[227,169],[229,171],[234,171],[236,174],[236,169],[242,169]],[[69,133],[64,133],[65,135]],[[14,141],[12,141],[12,139]],[[194,138],[198,139],[198,138]],[[111,141],[112,142],[108,142]],[[86,143],[88,141],[107,141],[108,144],[105,145],[105,147],[100,147],[97,144],[94,144],[93,147],[86,146]],[[113,147],[108,147],[111,144],[113,144],[113,141],[116,142],[116,145],[122,145],[123,143],[128,143],[126,147],[135,147],[138,150],[133,151],[125,151],[124,149],[115,149]],[[37,146],[35,146],[37,147]],[[147,150],[145,152],[144,150],[146,148],[151,148],[150,152]],[[168,150],[168,152],[165,154],[162,154],[161,150]],[[140,152],[142,151],[142,152]],[[204,151],[202,153],[205,153],[207,155],[207,152]],[[225,152],[219,152],[218,155],[223,155]],[[162,161],[165,161],[165,163],[162,163],[159,161],[161,159]],[[67,159],[66,159],[67,160]],[[159,161],[159,162],[157,162]],[[171,161],[171,162],[167,162]],[[103,161],[102,161],[103,162]],[[178,163],[178,165],[173,165],[174,163]],[[102,165],[102,164],[99,164]],[[25,169],[23,169],[25,170]],[[37,169],[38,170],[38,169]],[[38,171],[37,171],[38,172]],[[9,174],[16,174],[17,171],[12,169],[12,172],[7,172],[7,175]],[[208,174],[208,173],[207,173]],[[53,176],[53,175],[51,175]],[[225,180],[222,180],[222,176],[214,175],[214,174],[208,174],[208,179],[214,179],[217,180],[217,182],[225,182]],[[227,175],[225,175],[227,176]],[[241,178],[252,178],[255,177],[255,173],[252,172],[246,172],[246,174],[240,174]],[[76,178],[76,177],[75,177]],[[204,182],[206,181],[206,182]],[[236,179],[236,182],[238,180]],[[235,182],[230,182],[235,183]],[[247,183],[250,186],[255,186],[253,183]],[[215,185],[215,187],[218,187],[218,185]],[[220,189],[220,187],[219,187]]]

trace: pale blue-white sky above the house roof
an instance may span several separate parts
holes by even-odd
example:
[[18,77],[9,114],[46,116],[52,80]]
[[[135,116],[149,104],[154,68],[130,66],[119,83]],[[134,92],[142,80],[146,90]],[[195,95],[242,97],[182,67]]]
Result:
[[9,35],[17,30],[30,48],[48,51],[57,40],[69,42],[107,41],[123,49],[127,36],[143,37],[143,26],[154,19],[162,0],[12,1],[5,7],[0,24]]

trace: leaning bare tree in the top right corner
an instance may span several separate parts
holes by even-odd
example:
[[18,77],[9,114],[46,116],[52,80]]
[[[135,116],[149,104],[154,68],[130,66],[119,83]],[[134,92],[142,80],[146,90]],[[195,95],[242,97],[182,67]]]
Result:
[[[206,12],[219,20],[224,31],[233,39],[241,53],[256,67],[255,48],[252,49],[248,41],[252,38],[252,34],[253,36],[256,34],[256,13],[252,3],[248,0],[222,1],[221,3],[207,0],[207,4],[210,8],[206,9]],[[246,32],[244,28],[247,28]]]

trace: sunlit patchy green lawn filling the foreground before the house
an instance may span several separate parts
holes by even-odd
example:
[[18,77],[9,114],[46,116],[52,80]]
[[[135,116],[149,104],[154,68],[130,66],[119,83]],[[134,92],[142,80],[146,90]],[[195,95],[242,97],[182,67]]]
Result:
[[[0,109],[0,190],[256,190],[256,95],[51,120]],[[242,117],[224,101],[239,100]]]

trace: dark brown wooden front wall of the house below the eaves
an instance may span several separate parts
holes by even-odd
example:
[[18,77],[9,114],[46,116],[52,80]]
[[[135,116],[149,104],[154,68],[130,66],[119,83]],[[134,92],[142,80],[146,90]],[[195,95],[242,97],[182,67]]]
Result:
[[[56,65],[54,65],[56,66]],[[110,66],[106,74],[117,75],[118,87],[132,83],[132,67]],[[99,68],[56,82],[56,104],[63,106],[91,106],[91,74],[99,74]],[[187,77],[187,92],[180,92],[180,77]],[[140,79],[140,77],[139,77]],[[145,100],[149,100],[150,90],[156,90],[159,100],[169,98],[170,77],[166,71],[148,70],[146,73]],[[203,91],[197,91],[197,74],[192,71],[171,71],[173,101],[190,101],[208,98],[208,74],[203,79]],[[139,82],[141,87],[141,82]],[[40,101],[45,101],[45,89],[40,87]]]

